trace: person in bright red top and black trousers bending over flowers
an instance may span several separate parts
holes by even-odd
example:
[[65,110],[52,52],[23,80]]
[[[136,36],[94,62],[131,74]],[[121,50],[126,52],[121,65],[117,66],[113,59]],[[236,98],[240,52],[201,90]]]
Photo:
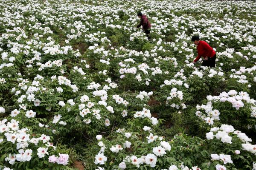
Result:
[[204,57],[202,66],[215,67],[216,52],[212,47],[207,42],[201,41],[197,35],[194,35],[191,41],[197,45],[198,51],[198,56],[194,59],[193,63],[197,62],[201,57]]

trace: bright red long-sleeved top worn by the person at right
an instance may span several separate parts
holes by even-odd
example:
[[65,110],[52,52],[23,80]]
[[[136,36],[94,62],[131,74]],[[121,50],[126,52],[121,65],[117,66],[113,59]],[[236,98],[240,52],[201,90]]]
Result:
[[216,52],[212,49],[212,47],[205,41],[199,41],[197,46],[198,56],[195,58],[194,62],[197,62],[201,57],[210,57],[212,58]]

